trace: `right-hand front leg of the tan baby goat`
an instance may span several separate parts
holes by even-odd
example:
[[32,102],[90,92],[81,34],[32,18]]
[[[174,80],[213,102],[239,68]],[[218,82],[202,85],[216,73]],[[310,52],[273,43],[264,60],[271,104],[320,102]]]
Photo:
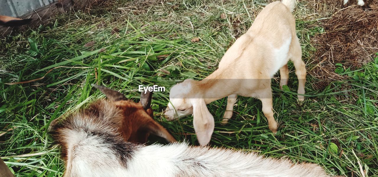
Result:
[[274,120],[273,116],[273,97],[272,97],[272,88],[269,86],[263,90],[256,92],[257,98],[260,99],[262,103],[262,112],[264,113],[266,119],[268,119],[269,129],[276,134],[278,124]]

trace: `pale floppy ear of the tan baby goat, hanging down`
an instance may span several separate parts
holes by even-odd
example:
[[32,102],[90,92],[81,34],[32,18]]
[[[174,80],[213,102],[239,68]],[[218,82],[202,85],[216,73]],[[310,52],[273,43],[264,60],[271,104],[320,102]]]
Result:
[[206,107],[203,99],[193,99],[193,127],[197,134],[198,142],[205,146],[210,142],[214,131],[214,117]]

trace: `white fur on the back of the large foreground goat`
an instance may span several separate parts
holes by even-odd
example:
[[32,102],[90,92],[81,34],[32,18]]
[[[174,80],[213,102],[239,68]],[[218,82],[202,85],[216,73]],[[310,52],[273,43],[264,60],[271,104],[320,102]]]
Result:
[[264,158],[255,153],[220,148],[193,147],[185,143],[141,146],[127,168],[124,168],[111,152],[101,150],[99,146],[90,146],[93,143],[85,146],[88,149],[73,159],[73,176],[328,177],[320,166],[314,164],[294,165],[288,159]]

